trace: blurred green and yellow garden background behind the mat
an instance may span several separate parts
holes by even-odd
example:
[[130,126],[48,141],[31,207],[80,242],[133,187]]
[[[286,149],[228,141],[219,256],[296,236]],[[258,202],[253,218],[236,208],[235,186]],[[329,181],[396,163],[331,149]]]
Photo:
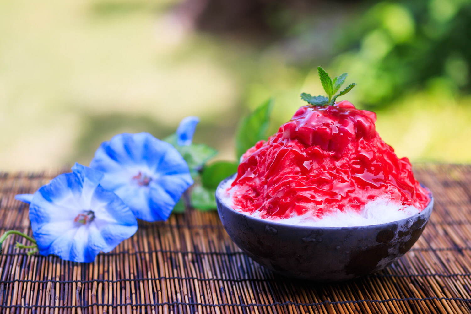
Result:
[[466,0],[0,1],[2,170],[88,164],[120,132],[163,138],[197,115],[196,143],[234,159],[239,118],[275,97],[275,131],[349,72],[341,99],[378,114],[412,161],[471,161]]

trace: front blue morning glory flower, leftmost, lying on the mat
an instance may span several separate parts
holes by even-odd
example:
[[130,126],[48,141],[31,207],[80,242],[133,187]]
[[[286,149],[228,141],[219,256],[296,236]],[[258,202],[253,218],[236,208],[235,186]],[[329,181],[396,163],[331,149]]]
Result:
[[130,208],[99,185],[100,171],[77,163],[72,171],[16,199],[30,203],[33,236],[42,255],[93,262],[100,251],[109,252],[133,235],[138,224]]

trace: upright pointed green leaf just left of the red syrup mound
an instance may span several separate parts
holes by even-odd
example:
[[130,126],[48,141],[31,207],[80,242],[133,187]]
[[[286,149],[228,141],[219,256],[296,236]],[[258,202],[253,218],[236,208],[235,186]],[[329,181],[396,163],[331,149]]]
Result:
[[255,111],[244,117],[235,134],[235,150],[240,158],[249,148],[262,139],[267,138],[269,117],[273,107],[273,100],[268,99]]

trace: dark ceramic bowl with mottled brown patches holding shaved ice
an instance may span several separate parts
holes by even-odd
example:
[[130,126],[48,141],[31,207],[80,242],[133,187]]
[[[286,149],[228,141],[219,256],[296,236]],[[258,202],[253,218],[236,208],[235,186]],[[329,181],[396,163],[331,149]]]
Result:
[[222,225],[232,241],[248,256],[268,269],[287,277],[318,282],[343,281],[391,265],[417,241],[433,207],[381,225],[358,227],[311,227],[286,225],[250,217],[221,201],[216,202]]

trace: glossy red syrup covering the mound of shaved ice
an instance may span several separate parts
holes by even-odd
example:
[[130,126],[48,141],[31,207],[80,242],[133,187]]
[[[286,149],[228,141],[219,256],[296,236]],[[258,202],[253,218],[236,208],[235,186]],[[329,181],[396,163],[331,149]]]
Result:
[[303,106],[242,157],[234,205],[261,218],[361,211],[377,198],[422,211],[430,199],[409,160],[375,130],[376,114],[348,101]]

